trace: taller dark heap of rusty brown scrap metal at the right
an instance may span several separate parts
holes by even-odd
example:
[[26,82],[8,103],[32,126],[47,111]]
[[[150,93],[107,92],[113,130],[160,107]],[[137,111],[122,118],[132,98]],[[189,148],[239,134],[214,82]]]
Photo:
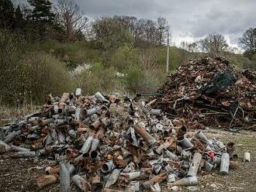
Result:
[[242,72],[223,57],[205,57],[178,67],[158,90],[155,107],[190,127],[255,129],[256,74]]

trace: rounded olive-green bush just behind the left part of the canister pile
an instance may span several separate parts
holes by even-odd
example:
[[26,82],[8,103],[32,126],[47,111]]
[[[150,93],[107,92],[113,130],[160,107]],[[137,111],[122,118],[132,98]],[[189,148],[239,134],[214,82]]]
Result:
[[49,93],[62,94],[72,91],[73,84],[64,63],[48,53],[27,53],[23,60],[28,67],[29,89],[36,100],[45,98]]

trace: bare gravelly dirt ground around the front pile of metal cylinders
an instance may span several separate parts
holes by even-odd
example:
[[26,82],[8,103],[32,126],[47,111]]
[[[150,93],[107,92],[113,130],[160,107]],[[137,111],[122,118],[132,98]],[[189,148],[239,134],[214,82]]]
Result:
[[[228,176],[220,176],[218,170],[206,176],[199,176],[196,187],[178,187],[178,191],[256,191],[256,132],[225,132],[218,129],[204,130],[209,137],[215,137],[224,143],[236,143],[239,156],[237,170],[230,170]],[[251,153],[251,163],[243,163],[244,152]],[[0,191],[36,191],[35,178],[44,173],[47,166],[54,162],[45,159],[11,159],[9,154],[0,155]],[[59,183],[40,191],[60,191]],[[71,183],[71,191],[79,191]],[[171,186],[163,185],[162,191],[172,191]]]

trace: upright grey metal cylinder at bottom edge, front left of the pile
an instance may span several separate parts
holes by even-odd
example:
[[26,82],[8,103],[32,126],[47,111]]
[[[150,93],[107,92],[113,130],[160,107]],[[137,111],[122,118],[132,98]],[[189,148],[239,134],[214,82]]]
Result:
[[60,183],[61,192],[67,192],[70,190],[70,172],[69,163],[67,162],[60,163]]

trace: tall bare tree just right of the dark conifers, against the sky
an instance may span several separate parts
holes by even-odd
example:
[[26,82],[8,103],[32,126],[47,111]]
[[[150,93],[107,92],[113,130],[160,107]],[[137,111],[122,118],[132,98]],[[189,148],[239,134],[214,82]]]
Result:
[[58,0],[55,9],[57,21],[64,27],[67,39],[75,39],[76,33],[86,29],[88,18],[74,1]]

